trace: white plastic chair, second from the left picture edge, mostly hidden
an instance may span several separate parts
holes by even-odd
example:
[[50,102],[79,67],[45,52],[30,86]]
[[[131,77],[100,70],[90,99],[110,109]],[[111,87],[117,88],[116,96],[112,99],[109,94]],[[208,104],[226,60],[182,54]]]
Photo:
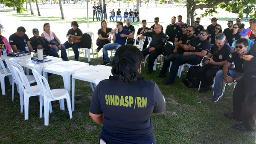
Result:
[[[13,68],[12,66],[15,66],[17,67],[17,69],[20,70],[20,72],[22,72],[24,74],[24,70],[23,68],[17,64],[17,63],[14,63],[12,62],[11,60],[8,60],[6,59],[6,64],[7,66],[9,67],[9,70],[11,71],[12,73],[12,101],[14,100],[14,83],[17,85],[17,91],[19,92],[20,90],[20,87],[19,87],[19,84],[18,84],[18,81],[17,81],[17,78],[15,77],[15,73],[13,71]],[[25,74],[24,74],[25,75]],[[33,75],[26,75],[28,81],[29,81],[29,84],[32,84],[32,83],[35,83],[35,78]]]

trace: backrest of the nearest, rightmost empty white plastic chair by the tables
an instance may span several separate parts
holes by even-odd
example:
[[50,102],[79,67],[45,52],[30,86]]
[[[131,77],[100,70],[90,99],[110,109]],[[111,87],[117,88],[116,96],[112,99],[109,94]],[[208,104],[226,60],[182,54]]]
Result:
[[[45,93],[48,92],[50,98],[55,99],[52,96],[52,92],[51,92],[50,86],[49,86],[48,81],[46,80],[46,78],[44,78],[42,75],[39,75],[39,73],[35,69],[31,69],[31,70],[32,70],[32,73],[35,77],[35,81],[36,81],[36,83],[37,83],[37,85],[40,89],[41,95],[43,95],[44,98],[46,98]],[[45,84],[45,86],[44,86],[44,84]]]

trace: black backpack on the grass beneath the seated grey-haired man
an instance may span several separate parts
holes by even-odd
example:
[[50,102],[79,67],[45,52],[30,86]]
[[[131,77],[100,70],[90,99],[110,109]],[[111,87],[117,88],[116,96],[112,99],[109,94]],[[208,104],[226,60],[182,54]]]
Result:
[[190,66],[186,78],[182,78],[182,82],[189,88],[198,88],[200,84],[198,69],[200,66]]

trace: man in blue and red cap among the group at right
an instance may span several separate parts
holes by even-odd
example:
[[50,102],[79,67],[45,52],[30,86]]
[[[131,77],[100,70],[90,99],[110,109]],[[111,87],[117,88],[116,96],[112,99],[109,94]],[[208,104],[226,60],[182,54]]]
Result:
[[[244,29],[241,33],[239,33],[239,35],[241,35],[240,39],[248,40],[248,43],[249,43],[248,49],[247,49],[248,51],[250,51],[250,48],[254,44],[254,42],[249,39],[251,33],[252,32],[250,31],[250,29]],[[231,49],[232,49],[233,52],[236,51],[236,43],[237,43],[237,40],[233,41],[233,43],[232,43]]]

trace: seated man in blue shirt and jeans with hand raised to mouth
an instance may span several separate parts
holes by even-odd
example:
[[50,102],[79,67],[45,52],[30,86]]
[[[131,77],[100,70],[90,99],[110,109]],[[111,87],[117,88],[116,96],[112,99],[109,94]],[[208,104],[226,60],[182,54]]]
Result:
[[[116,29],[118,29],[118,33],[116,34]],[[128,38],[134,38],[134,35],[127,29],[123,29],[123,23],[117,22],[116,23],[116,29],[114,29],[113,32],[113,43],[108,43],[103,46],[103,59],[104,63],[102,65],[109,64],[109,58],[108,58],[108,50],[115,49],[117,50],[120,46],[125,45],[127,37]]]

